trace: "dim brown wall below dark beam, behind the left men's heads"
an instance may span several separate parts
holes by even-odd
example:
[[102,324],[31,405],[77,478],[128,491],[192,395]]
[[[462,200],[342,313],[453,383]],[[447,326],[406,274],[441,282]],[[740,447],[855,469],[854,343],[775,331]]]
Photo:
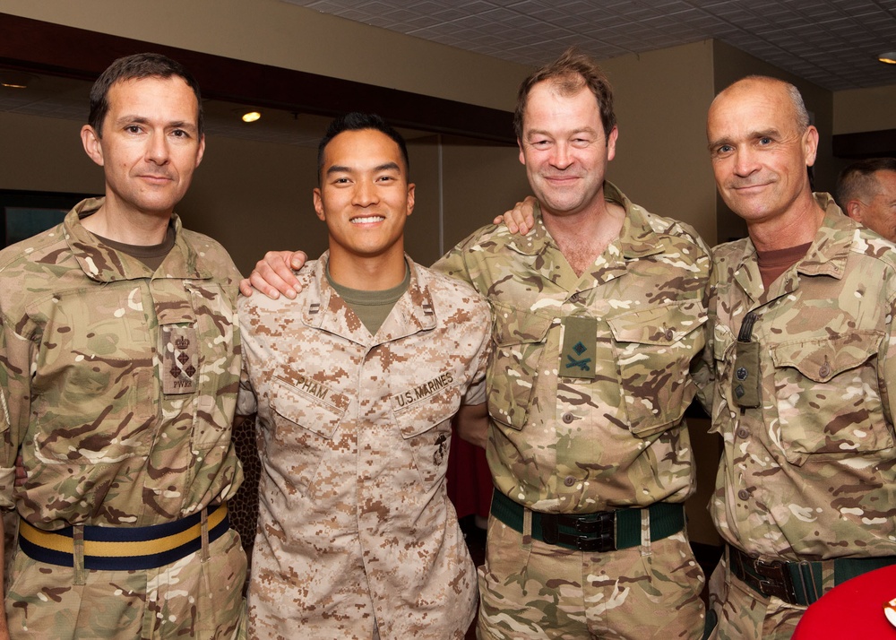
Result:
[[[0,112],[0,140],[15,150],[3,156],[0,189],[102,194],[102,169],[82,149],[81,126]],[[515,147],[431,135],[409,141],[409,155],[417,206],[406,246],[421,264],[528,193]],[[301,248],[316,257],[327,246],[312,204],[316,165],[314,149],[210,135],[177,212],[189,229],[219,240],[244,273],[269,249]]]

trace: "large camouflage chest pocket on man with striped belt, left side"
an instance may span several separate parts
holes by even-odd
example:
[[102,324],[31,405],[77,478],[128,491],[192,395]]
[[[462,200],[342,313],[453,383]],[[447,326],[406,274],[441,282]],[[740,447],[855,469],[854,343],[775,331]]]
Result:
[[113,464],[150,451],[159,390],[140,290],[127,286],[54,300],[31,402],[47,462]]

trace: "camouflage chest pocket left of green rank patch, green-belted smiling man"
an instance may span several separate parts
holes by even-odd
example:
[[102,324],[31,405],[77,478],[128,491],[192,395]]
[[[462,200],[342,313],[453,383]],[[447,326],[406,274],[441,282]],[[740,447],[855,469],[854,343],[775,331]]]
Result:
[[538,365],[554,316],[495,303],[495,350],[488,364],[488,413],[499,428],[520,430],[529,419]]

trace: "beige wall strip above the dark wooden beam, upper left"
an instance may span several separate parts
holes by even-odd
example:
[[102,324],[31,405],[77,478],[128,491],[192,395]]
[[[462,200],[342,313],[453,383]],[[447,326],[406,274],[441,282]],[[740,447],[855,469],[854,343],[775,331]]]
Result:
[[0,12],[508,110],[530,73],[280,0],[2,0]]

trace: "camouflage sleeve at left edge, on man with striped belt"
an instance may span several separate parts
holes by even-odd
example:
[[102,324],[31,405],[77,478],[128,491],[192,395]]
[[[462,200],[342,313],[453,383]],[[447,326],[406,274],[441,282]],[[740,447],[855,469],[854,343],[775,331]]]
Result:
[[15,457],[28,428],[30,415],[30,359],[32,343],[13,330],[0,310],[0,507],[13,506]]

